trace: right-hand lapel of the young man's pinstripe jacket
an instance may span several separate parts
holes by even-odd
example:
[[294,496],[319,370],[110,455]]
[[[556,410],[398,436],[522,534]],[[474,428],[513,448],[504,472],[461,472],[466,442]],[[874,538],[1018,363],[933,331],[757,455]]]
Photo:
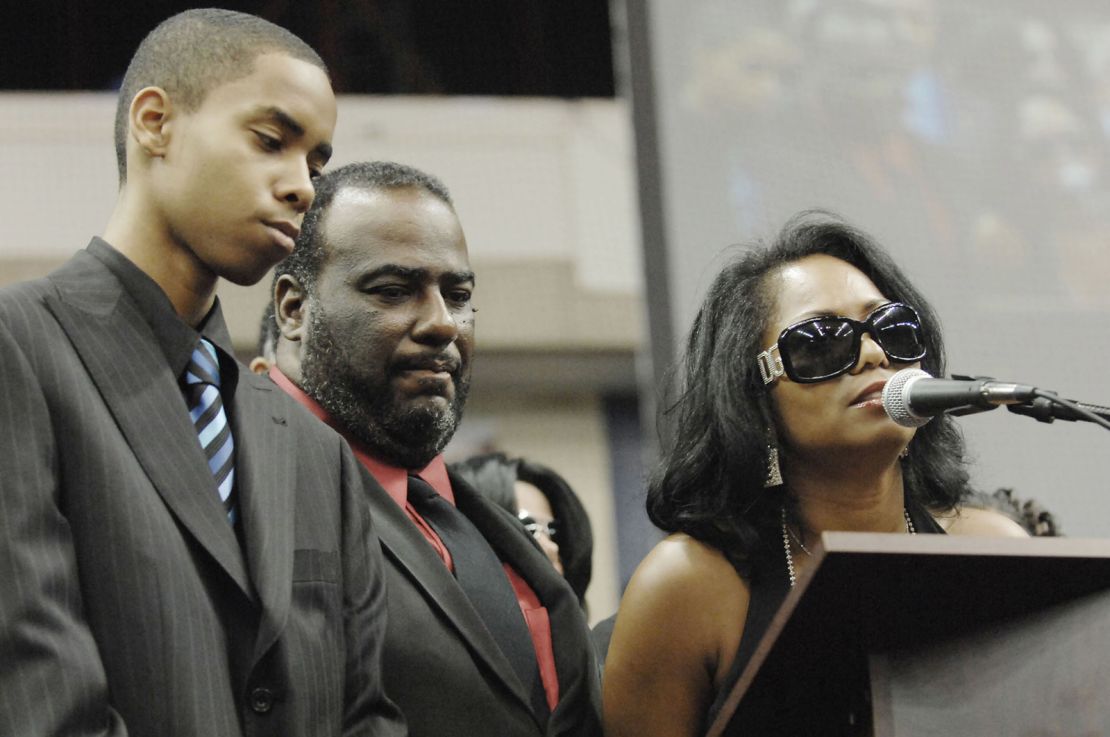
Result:
[[240,370],[231,420],[248,565],[262,604],[255,656],[281,634],[292,599],[296,453],[274,391],[269,380]]

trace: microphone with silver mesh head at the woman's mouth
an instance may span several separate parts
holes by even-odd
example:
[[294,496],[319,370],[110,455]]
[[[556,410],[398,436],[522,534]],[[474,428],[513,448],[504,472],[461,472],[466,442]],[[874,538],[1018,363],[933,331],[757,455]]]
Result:
[[920,368],[902,368],[882,387],[882,408],[899,425],[920,427],[939,414],[973,414],[1030,402],[1036,392],[1036,386],[1026,384],[987,377],[934,378]]

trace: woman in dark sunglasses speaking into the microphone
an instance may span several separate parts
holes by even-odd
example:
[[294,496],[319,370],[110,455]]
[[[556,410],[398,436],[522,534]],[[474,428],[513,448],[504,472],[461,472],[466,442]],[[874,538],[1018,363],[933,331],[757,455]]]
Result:
[[670,535],[608,650],[608,737],[703,734],[821,532],[942,533],[927,508],[969,492],[962,438],[947,417],[897,425],[881,403],[901,368],[944,374],[938,327],[889,256],[826,213],[717,276],[648,488]]

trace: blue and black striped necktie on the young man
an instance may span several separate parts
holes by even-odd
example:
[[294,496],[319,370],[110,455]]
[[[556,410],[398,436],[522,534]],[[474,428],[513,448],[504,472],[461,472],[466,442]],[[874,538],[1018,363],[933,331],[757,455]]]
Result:
[[235,522],[235,442],[220,397],[220,360],[215,346],[200,339],[184,375],[185,402],[196,437],[215,478],[228,522]]

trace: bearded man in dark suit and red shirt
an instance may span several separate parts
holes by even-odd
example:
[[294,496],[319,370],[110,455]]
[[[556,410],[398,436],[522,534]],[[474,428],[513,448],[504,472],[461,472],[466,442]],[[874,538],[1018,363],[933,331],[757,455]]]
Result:
[[527,532],[450,474],[474,344],[444,185],[390,162],[316,180],[274,275],[270,376],[350,442],[385,552],[386,694],[415,737],[601,735],[574,592]]

